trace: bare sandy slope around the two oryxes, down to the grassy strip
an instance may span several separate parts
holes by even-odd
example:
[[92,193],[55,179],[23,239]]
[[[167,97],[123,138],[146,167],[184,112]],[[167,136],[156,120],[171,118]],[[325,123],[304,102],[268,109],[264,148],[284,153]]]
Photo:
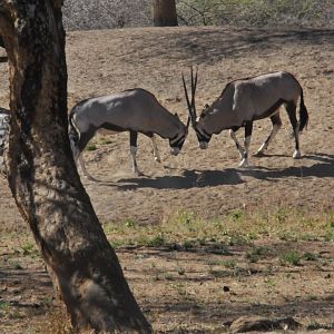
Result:
[[[291,71],[299,79],[310,110],[310,127],[302,136],[303,159],[291,158],[291,127],[283,112],[284,127],[268,157],[252,158],[254,167],[247,170],[235,168],[238,154],[228,132],[216,136],[205,151],[190,132],[178,157],[169,156],[167,141],[159,141],[163,165],[153,160],[150,143],[140,139],[138,163],[147,177],[137,178],[129,167],[128,136],[115,137],[110,145],[86,155],[89,170],[105,181],[86,183],[102,220],[131,217],[156,223],[178,207],[217,216],[259,204],[311,210],[332,205],[333,31],[135,29],[73,32],[67,46],[69,106],[89,96],[143,87],[186,121],[180,75],[196,65],[198,110],[228,80],[275,70]],[[253,150],[269,128],[269,120],[257,122]]]

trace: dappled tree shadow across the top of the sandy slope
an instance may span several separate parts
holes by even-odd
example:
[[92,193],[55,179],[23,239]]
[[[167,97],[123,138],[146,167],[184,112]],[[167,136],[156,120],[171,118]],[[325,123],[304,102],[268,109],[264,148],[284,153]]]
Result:
[[[259,29],[259,28],[235,28],[215,27],[196,30],[177,30],[177,38],[169,39],[153,35],[145,41],[137,40],[136,52],[148,47],[154,48],[155,53],[150,59],[166,57],[170,60],[170,49],[176,61],[188,59],[195,63],[214,65],[225,58],[244,57],[245,52],[279,52],[283,46],[288,45],[314,45],[320,51],[323,45],[331,46],[334,42],[333,29]],[[215,41],[213,43],[212,41]],[[144,43],[145,45],[141,45]],[[148,46],[147,43],[151,45]],[[146,61],[147,53],[137,55],[136,61]],[[134,57],[127,59],[134,62]]]

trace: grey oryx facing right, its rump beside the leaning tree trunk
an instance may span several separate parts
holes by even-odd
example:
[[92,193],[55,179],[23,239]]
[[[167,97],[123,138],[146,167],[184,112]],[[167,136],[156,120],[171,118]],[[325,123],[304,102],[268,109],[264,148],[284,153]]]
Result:
[[81,155],[88,141],[99,129],[116,134],[129,131],[132,171],[140,176],[143,173],[136,160],[138,132],[151,138],[155,159],[160,161],[155,135],[168,138],[170,153],[177,156],[187,137],[189,122],[188,119],[185,126],[177,114],[170,114],[151,92],[136,88],[77,104],[69,114],[69,138],[76,164],[79,161],[85,176],[94,179]]

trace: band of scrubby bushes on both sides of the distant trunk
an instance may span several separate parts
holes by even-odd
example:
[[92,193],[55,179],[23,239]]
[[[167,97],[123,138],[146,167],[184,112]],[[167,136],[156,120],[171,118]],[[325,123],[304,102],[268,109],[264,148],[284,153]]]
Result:
[[[177,0],[179,24],[333,27],[331,0]],[[63,22],[69,30],[153,26],[148,0],[67,0]]]

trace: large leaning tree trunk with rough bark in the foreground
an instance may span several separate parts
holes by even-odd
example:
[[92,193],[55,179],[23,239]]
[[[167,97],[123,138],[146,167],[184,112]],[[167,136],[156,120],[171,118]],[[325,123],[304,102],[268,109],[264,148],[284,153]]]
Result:
[[72,159],[61,6],[0,1],[12,112],[9,186],[75,328],[150,333]]

